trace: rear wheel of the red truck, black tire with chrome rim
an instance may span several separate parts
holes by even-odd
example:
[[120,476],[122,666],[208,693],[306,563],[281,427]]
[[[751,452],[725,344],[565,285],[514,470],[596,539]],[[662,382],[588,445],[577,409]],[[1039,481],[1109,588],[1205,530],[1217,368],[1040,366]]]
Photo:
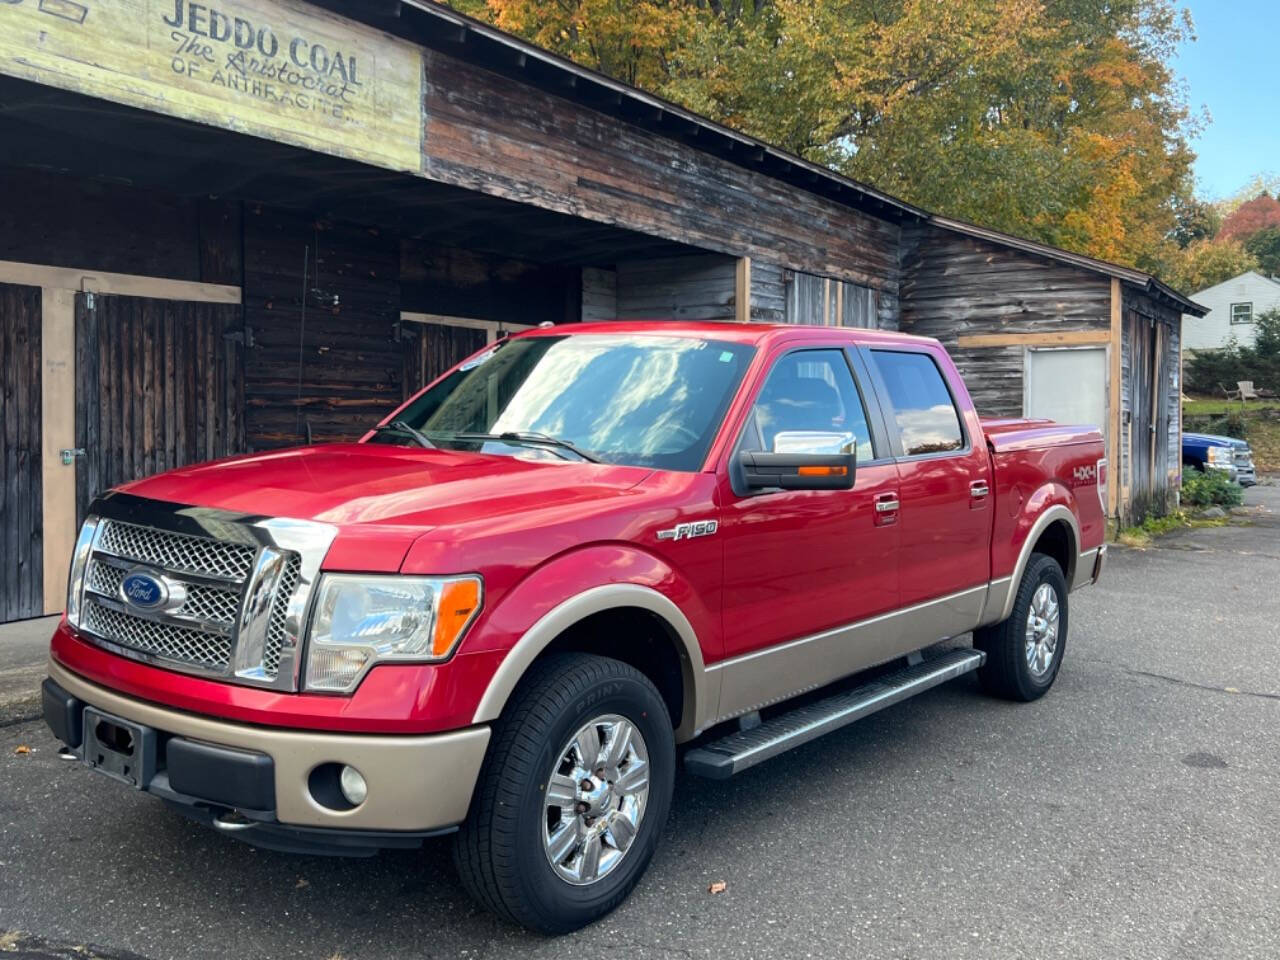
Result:
[[[1046,590],[1050,591],[1046,594]],[[1042,603],[1051,596],[1057,608],[1056,632],[1052,653],[1048,653],[1048,632],[1032,632],[1039,625],[1030,623],[1033,605],[1041,623],[1051,621]],[[989,627],[974,631],[973,645],[986,650],[987,663],[978,671],[983,689],[995,696],[1007,700],[1038,700],[1057,678],[1066,650],[1068,595],[1066,579],[1057,561],[1043,553],[1033,553],[1023,572],[1014,596],[1014,608],[1009,618]],[[1029,635],[1030,632],[1030,635]],[[1036,640],[1036,650],[1030,649]]]

